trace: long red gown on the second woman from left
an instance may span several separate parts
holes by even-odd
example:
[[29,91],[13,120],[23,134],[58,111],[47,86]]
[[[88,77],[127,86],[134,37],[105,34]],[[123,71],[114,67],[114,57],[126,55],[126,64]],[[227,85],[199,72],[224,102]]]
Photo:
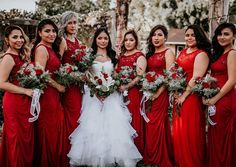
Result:
[[[52,48],[45,48],[49,55],[45,70],[49,70],[54,78],[53,73],[61,63]],[[40,97],[40,106],[41,112],[36,122],[34,167],[62,166],[64,114],[58,90],[48,85]]]

